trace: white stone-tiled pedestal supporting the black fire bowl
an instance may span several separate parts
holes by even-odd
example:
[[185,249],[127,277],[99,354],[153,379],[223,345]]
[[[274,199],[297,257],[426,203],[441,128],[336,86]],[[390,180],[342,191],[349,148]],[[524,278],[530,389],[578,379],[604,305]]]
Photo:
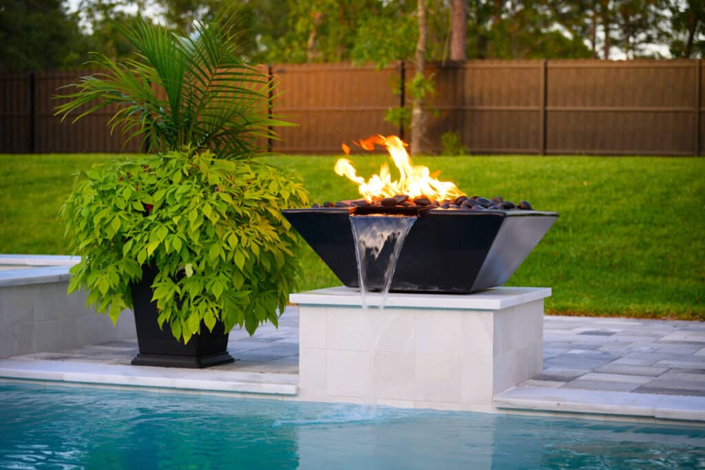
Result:
[[550,288],[471,295],[362,297],[348,287],[301,292],[299,397],[319,402],[489,410],[494,395],[541,372]]

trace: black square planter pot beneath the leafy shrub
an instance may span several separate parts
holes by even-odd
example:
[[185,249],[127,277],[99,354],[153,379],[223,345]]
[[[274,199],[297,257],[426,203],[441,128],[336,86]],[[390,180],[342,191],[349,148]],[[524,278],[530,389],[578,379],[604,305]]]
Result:
[[132,360],[133,366],[188,367],[201,369],[233,362],[228,354],[228,333],[220,321],[213,331],[201,322],[200,334],[193,335],[187,344],[176,340],[165,325],[159,329],[157,302],[152,302],[152,283],[157,269],[142,267],[142,281],[132,286],[137,344],[140,353]]

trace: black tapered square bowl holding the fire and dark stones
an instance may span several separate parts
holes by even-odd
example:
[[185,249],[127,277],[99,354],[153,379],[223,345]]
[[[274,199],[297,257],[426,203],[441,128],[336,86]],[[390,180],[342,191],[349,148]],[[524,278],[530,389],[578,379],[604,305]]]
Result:
[[[360,287],[354,208],[285,209],[283,215],[348,287]],[[503,285],[558,218],[522,210],[419,211],[399,254],[393,292],[467,294]],[[384,217],[380,218],[384,223]],[[381,270],[365,269],[369,290],[381,290]]]

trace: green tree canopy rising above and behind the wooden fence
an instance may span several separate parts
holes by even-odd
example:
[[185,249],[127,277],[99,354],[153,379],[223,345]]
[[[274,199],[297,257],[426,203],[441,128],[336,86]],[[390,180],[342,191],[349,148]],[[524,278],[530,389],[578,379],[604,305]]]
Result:
[[[705,0],[425,4],[431,61],[450,59],[451,46],[462,57],[463,42],[467,58],[695,58],[705,52]],[[0,68],[73,68],[88,51],[123,58],[132,49],[111,19],[147,16],[190,34],[219,8],[233,6],[238,52],[247,61],[389,63],[415,54],[416,0],[80,0],[73,13],[68,0],[0,0]],[[465,23],[458,20],[463,17]]]

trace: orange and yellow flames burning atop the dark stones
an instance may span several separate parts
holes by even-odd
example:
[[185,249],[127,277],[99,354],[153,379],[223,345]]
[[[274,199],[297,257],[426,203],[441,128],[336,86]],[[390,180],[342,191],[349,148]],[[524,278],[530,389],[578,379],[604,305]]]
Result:
[[[345,176],[355,183],[362,197],[372,202],[373,199],[382,197],[393,197],[397,194],[407,194],[409,197],[429,197],[431,200],[445,201],[455,199],[458,196],[465,196],[455,184],[450,181],[439,181],[435,177],[439,172],[431,175],[427,166],[413,166],[409,154],[404,148],[406,144],[396,135],[382,137],[374,135],[367,139],[360,139],[360,142],[353,142],[365,150],[374,149],[374,145],[384,145],[387,147],[394,164],[399,170],[399,179],[392,181],[389,166],[383,163],[379,168],[379,174],[372,175],[369,180],[357,175],[357,171],[348,159],[339,159],[333,168],[338,175]],[[350,147],[343,144],[345,154],[350,153]]]

